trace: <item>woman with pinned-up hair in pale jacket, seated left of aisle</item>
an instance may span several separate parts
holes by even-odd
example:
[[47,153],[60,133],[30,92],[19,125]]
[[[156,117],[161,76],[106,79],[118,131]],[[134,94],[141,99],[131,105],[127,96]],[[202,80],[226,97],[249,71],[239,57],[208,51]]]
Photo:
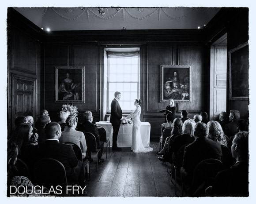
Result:
[[67,127],[64,132],[61,133],[60,142],[71,142],[76,144],[82,150],[83,158],[86,156],[87,145],[83,132],[76,131],[76,119],[73,116],[69,116],[66,120]]

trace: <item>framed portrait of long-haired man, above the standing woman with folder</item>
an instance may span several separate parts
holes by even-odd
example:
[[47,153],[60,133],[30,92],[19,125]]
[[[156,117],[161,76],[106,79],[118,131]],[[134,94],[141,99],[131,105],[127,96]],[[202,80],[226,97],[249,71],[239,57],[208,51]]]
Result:
[[192,66],[160,66],[160,102],[191,102]]

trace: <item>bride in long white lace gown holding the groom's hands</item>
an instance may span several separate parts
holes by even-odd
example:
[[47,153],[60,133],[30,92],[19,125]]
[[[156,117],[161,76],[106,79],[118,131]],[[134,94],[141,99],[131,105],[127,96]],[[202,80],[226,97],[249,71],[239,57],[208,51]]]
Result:
[[153,150],[151,147],[144,147],[140,135],[140,113],[141,113],[141,99],[135,99],[134,105],[136,109],[129,114],[125,119],[132,118],[133,126],[132,126],[132,151],[135,153],[139,152],[150,152]]

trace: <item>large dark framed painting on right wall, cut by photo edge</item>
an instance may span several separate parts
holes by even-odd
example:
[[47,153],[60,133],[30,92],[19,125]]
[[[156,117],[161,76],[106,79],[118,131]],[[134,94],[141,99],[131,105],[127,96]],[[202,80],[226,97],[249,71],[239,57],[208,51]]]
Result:
[[249,99],[248,42],[229,51],[229,99]]

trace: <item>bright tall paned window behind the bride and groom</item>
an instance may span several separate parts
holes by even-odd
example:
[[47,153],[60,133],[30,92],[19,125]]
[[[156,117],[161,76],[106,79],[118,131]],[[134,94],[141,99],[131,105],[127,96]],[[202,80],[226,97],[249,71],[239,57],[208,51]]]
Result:
[[121,109],[131,111],[135,99],[139,98],[139,52],[108,52],[107,59],[108,112],[115,91],[121,92]]

